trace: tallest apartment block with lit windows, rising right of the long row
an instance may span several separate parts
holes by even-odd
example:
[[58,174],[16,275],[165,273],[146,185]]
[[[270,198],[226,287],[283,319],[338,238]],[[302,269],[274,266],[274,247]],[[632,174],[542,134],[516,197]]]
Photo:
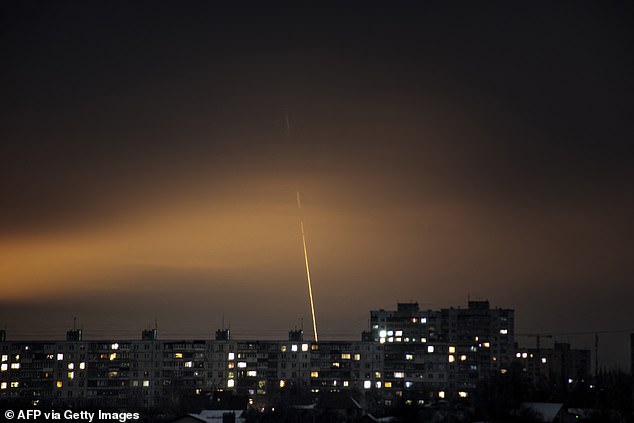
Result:
[[385,348],[384,384],[406,401],[468,397],[513,359],[513,310],[491,309],[488,301],[441,310],[400,303],[371,311],[370,322],[372,339]]

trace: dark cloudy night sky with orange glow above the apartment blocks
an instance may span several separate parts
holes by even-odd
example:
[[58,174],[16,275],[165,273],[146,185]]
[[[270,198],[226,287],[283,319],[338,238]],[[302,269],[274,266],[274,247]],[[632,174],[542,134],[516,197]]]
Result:
[[264,3],[0,3],[7,337],[310,334],[299,189],[320,339],[469,297],[626,368],[634,5]]

